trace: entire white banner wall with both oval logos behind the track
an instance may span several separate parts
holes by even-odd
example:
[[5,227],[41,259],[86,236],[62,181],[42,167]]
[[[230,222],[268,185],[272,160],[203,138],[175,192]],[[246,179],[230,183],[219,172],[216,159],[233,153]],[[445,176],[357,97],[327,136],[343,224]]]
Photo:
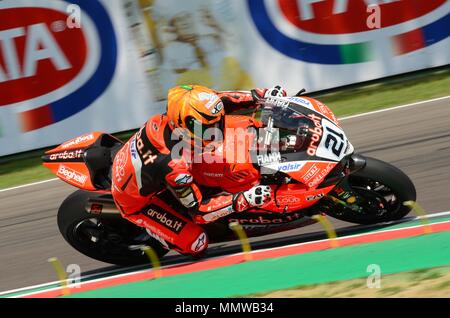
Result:
[[0,156],[137,128],[174,85],[318,91],[450,63],[447,0],[3,0]]

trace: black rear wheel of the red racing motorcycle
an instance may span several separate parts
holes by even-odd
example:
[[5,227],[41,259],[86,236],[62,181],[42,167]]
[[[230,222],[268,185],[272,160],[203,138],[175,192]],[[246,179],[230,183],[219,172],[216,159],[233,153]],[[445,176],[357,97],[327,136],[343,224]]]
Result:
[[152,247],[159,257],[168,250],[149,237],[145,230],[119,214],[91,214],[86,211],[88,198],[100,196],[78,190],[67,197],[58,211],[58,227],[64,239],[77,251],[93,259],[116,265],[148,263],[139,247]]

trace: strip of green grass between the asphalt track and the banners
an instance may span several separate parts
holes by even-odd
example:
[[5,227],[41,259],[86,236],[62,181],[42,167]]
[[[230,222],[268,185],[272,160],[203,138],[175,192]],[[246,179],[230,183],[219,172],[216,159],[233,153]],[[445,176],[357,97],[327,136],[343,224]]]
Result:
[[[450,95],[448,67],[311,96],[327,104],[337,116],[345,116],[447,95]],[[126,140],[131,132],[117,136]],[[52,173],[41,165],[44,151],[0,158],[0,189],[52,178]]]

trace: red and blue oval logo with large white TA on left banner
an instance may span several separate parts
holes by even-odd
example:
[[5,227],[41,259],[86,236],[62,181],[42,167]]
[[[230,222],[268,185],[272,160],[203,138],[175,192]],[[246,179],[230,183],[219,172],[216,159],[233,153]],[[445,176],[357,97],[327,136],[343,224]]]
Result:
[[[79,28],[66,23],[70,4],[81,9]],[[22,131],[81,112],[110,85],[117,41],[101,1],[6,0],[0,21],[0,91],[15,92],[2,94],[0,107],[17,108]]]

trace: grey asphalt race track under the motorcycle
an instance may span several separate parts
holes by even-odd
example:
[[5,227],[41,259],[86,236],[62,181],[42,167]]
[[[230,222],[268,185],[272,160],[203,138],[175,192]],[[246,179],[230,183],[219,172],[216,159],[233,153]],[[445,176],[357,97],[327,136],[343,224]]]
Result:
[[[450,99],[349,118],[342,126],[357,152],[390,162],[411,177],[418,202],[428,213],[450,209]],[[116,269],[81,255],[59,234],[56,212],[72,191],[62,181],[52,181],[0,192],[0,291],[55,281],[47,262],[55,256],[63,264],[78,264],[84,275]],[[332,221],[337,229],[350,226]],[[252,241],[264,246],[283,238],[305,239],[306,233],[321,230],[313,225]],[[213,251],[237,249],[236,244]],[[180,260],[172,257],[172,262]]]

